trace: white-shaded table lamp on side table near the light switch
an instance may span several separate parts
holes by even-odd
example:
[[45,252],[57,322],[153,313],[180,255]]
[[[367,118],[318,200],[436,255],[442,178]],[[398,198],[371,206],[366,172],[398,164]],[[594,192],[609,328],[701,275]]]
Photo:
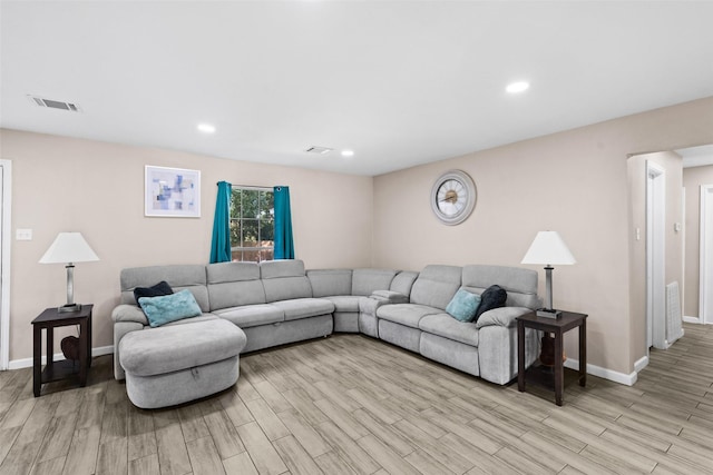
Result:
[[60,313],[79,311],[81,305],[75,304],[75,263],[99,260],[80,232],[60,232],[40,264],[66,264],[67,269],[67,304],[58,307]]

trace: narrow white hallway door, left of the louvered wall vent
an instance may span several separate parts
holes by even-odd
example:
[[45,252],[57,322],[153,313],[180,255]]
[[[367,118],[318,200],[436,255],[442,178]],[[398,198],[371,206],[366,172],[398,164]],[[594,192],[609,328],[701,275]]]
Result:
[[666,176],[646,160],[646,342],[666,348]]

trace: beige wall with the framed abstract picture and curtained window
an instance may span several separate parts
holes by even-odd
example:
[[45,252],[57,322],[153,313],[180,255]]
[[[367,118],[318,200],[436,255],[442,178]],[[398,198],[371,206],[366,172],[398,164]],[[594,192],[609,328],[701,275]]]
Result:
[[[0,158],[12,160],[12,236],[18,228],[33,231],[30,241],[12,240],[10,360],[31,357],[30,321],[66,300],[64,266],[38,264],[57,232],[81,231],[101,259],[77,264],[75,297],[95,304],[94,346],[111,345],[119,270],[207,263],[215,184],[221,180],[290,186],[295,253],[307,267],[371,265],[371,177],[12,130],[0,133]],[[144,217],[145,165],[199,169],[202,217]]]

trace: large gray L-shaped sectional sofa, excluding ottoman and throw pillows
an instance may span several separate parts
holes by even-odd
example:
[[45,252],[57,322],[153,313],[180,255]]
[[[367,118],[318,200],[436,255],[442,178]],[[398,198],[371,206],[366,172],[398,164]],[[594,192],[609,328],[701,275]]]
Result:
[[[157,337],[172,326],[223,319],[244,331],[241,353],[246,353],[333,331],[362,333],[496,384],[517,374],[515,319],[540,304],[537,273],[514,267],[305,270],[301,260],[275,260],[127,268],[120,305],[113,311],[117,379],[125,378],[123,339],[149,328],[133,290],[160,280],[175,291],[189,289],[203,315],[153,328]],[[480,294],[494,284],[507,290],[505,307],[484,313],[477,323],[446,313],[458,289]],[[189,328],[199,331],[199,326]],[[526,364],[538,354],[538,335],[528,329]]]

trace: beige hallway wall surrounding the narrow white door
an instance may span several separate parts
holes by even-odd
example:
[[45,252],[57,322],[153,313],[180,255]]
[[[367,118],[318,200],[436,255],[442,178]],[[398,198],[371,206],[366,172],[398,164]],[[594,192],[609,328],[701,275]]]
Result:
[[[683,159],[673,151],[635,155],[627,161],[629,190],[629,324],[634,355],[646,354],[646,161],[664,170],[665,217],[665,283],[683,286],[683,232],[675,224],[683,224]],[[638,229],[638,239],[636,238]],[[682,298],[682,297],[681,297]]]

